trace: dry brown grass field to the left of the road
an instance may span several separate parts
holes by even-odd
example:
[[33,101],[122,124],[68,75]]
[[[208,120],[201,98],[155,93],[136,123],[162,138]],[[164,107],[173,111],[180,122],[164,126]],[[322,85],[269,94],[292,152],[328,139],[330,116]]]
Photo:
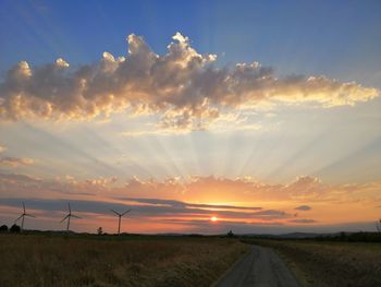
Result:
[[210,286],[234,239],[0,235],[0,286]]

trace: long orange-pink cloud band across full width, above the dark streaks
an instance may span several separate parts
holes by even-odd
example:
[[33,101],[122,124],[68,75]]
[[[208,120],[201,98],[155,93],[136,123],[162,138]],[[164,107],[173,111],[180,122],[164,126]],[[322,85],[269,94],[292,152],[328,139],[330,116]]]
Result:
[[[253,211],[257,206],[256,203],[259,203],[257,207],[262,207],[261,202],[287,202],[290,210],[294,210],[295,206],[298,206],[296,204],[300,202],[309,204],[317,202],[322,204],[379,204],[381,202],[380,188],[380,181],[334,186],[324,184],[314,177],[298,177],[291,183],[274,184],[260,182],[249,177],[230,179],[193,176],[160,180],[134,177],[123,180],[115,177],[78,179],[66,176],[40,179],[0,172],[0,193],[3,196],[5,194],[14,196],[40,194],[41,191],[51,194],[50,196],[107,194],[113,200],[131,198],[142,201],[140,203],[150,201],[150,199],[160,199],[163,202],[156,200],[157,204],[192,202],[194,205],[187,205],[187,207],[199,207],[198,203],[210,203],[209,207],[231,205],[242,206],[238,210],[249,207]],[[298,207],[296,210],[300,210]],[[307,210],[307,207],[303,208]]]

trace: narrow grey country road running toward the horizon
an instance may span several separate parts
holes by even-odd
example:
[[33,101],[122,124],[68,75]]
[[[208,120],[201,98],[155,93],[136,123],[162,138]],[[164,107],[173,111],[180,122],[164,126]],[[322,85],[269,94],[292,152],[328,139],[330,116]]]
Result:
[[253,246],[216,287],[298,287],[294,275],[268,248]]

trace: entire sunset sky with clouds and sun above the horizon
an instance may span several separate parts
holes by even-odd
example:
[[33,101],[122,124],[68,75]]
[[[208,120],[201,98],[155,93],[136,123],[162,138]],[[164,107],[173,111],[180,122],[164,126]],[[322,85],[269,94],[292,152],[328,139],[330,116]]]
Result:
[[[376,230],[380,1],[0,2],[0,225]],[[19,223],[20,224],[20,223]]]

